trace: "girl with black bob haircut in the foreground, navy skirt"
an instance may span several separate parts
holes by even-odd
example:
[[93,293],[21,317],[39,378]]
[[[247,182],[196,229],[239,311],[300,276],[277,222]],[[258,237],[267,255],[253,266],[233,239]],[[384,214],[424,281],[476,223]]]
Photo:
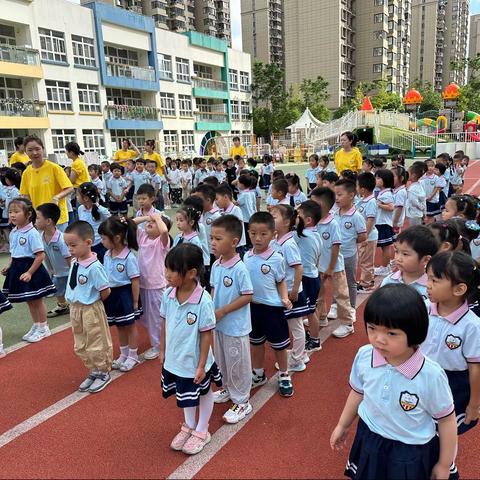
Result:
[[423,298],[408,285],[386,285],[367,301],[364,321],[370,345],[355,357],[352,390],[330,438],[332,449],[343,448],[358,415],[345,475],[355,480],[458,478],[448,379],[420,349],[429,323]]

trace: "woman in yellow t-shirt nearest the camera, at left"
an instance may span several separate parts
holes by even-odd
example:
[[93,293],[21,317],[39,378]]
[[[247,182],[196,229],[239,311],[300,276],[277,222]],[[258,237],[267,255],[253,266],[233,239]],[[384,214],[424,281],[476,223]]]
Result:
[[68,224],[65,197],[73,192],[72,182],[60,165],[44,158],[43,142],[36,135],[25,138],[25,152],[32,164],[23,172],[20,195],[30,198],[33,208],[43,203],[56,203],[60,207],[57,228],[64,231]]

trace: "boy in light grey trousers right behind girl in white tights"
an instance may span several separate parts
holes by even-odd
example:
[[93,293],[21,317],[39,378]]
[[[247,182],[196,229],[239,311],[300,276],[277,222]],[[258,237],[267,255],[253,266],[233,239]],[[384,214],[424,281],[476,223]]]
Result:
[[215,359],[223,375],[215,403],[231,400],[223,415],[227,423],[238,423],[252,411],[252,362],[249,334],[252,330],[250,302],[253,286],[245,264],[236,252],[243,224],[233,215],[217,218],[212,224],[212,251],[218,260],[212,266],[211,295],[215,305]]

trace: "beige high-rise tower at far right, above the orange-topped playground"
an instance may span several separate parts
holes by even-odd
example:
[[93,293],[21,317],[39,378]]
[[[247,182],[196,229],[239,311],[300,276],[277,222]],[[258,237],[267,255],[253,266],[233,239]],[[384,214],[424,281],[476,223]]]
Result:
[[413,0],[410,78],[442,90],[465,83],[451,63],[467,55],[469,0]]

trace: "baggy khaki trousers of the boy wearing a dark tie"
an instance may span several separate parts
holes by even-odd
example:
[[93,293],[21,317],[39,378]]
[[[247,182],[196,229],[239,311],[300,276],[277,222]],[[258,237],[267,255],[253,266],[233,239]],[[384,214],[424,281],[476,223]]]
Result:
[[74,351],[89,370],[109,372],[112,368],[112,337],[101,300],[91,305],[70,305]]

